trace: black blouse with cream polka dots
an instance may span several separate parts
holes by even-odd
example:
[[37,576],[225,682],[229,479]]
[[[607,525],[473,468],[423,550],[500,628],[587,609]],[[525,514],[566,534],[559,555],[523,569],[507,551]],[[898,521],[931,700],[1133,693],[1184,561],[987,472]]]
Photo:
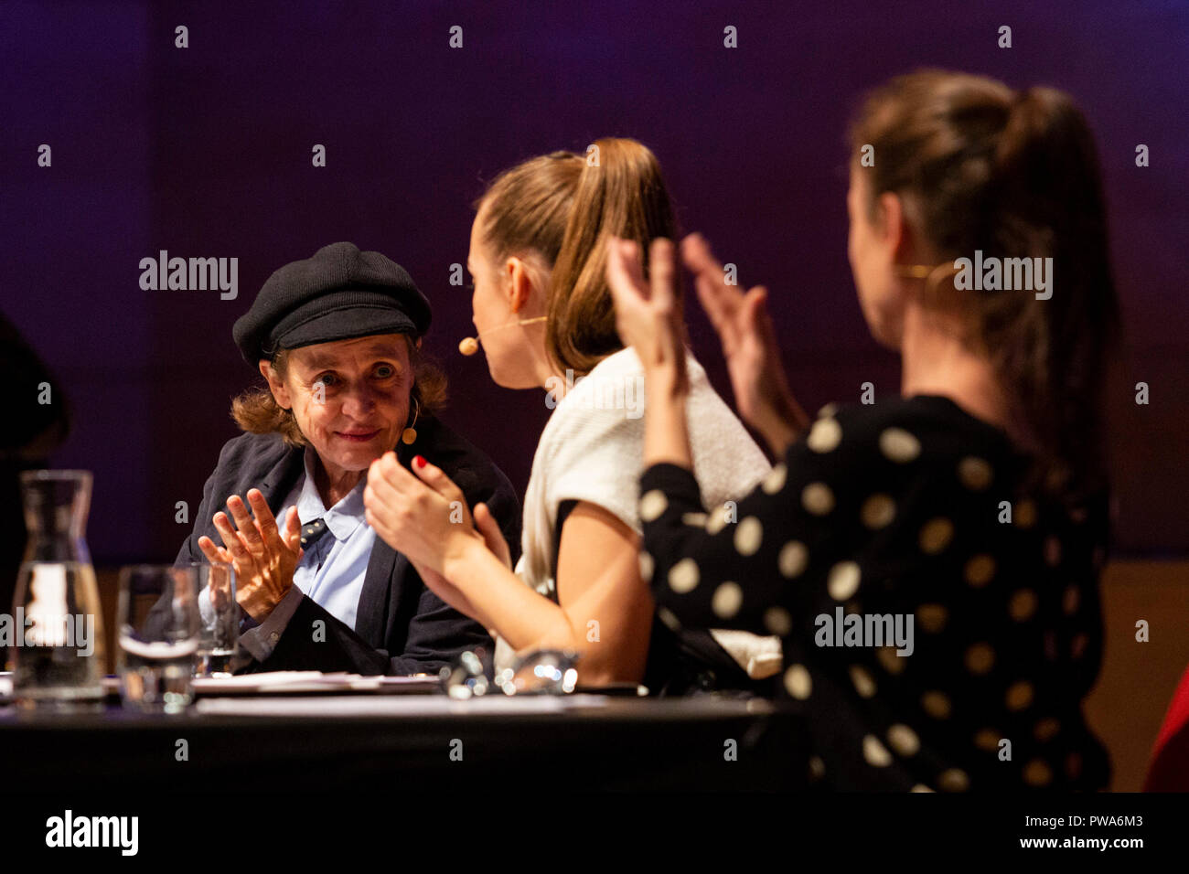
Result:
[[812,782],[1102,788],[1081,702],[1101,659],[1106,496],[1069,507],[1025,491],[1025,470],[949,398],[831,404],[709,516],[690,471],[644,471],[641,572],[671,628],[780,635]]

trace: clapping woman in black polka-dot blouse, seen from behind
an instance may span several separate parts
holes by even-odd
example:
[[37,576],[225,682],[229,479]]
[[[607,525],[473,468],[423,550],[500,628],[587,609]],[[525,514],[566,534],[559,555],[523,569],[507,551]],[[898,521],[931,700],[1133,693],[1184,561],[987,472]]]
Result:
[[[684,628],[781,635],[824,787],[1103,788],[1081,705],[1102,652],[1118,316],[1086,119],[1051,88],[923,71],[868,98],[850,155],[851,271],[872,334],[901,356],[900,397],[801,427],[766,290],[725,284],[700,238],[682,245],[741,414],[782,458],[735,526],[685,520],[699,485],[673,247],[653,244],[649,288],[638,241],[611,244],[619,331],[648,379],[658,608]],[[1024,276],[1027,259],[1033,281],[989,266],[958,281],[983,256]]]

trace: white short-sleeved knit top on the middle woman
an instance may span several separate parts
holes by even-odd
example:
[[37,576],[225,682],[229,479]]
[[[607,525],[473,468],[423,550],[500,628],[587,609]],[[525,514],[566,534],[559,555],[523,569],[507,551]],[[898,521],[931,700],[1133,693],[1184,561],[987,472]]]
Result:
[[[747,495],[770,465],[742,422],[711,386],[706,371],[686,357],[690,396],[686,420],[693,472],[705,509]],[[516,574],[552,601],[554,528],[566,501],[602,507],[637,534],[640,474],[644,449],[644,371],[635,350],[624,348],[574,381],[541,433],[524,493],[524,524]],[[597,557],[591,557],[597,560]],[[746,631],[712,631],[719,645],[753,677],[780,667],[780,641]],[[509,667],[515,653],[496,639],[496,669]]]

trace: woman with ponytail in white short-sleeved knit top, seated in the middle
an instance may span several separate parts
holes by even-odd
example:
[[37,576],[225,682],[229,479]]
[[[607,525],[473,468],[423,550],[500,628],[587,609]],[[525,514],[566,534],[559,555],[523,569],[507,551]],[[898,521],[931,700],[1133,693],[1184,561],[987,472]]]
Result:
[[[674,635],[655,621],[642,578],[641,523],[661,508],[638,508],[643,371],[616,333],[605,268],[612,237],[647,249],[674,233],[656,158],[635,140],[600,139],[586,156],[553,152],[507,170],[476,206],[467,269],[491,377],[545,389],[554,408],[533,459],[521,559],[514,572],[483,504],[470,508],[474,530],[432,458],[414,460],[416,476],[391,457],[372,466],[369,522],[435,593],[491,629],[497,669],[517,653],[567,649],[584,685],[753,688],[779,669],[779,641]],[[685,372],[700,523],[769,465],[693,358]]]

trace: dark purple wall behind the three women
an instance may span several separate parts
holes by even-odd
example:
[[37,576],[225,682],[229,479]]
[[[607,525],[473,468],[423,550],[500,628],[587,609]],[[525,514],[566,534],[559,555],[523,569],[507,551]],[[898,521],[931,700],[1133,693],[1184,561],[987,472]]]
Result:
[[[244,5],[249,6],[249,5]],[[507,8],[501,8],[507,6]],[[643,6],[643,10],[638,8]],[[495,386],[471,332],[470,203],[501,169],[599,136],[659,156],[686,229],[767,283],[806,408],[898,389],[845,257],[845,120],[861,92],[937,65],[1081,102],[1102,153],[1130,333],[1116,398],[1118,546],[1189,547],[1189,11],[1184,2],[26,4],[0,6],[0,309],[95,472],[99,562],[171,558],[253,379],[231,325],[277,266],[335,240],[404,265],[434,303],[443,416],[523,490],[548,410]],[[1013,48],[996,46],[1009,25]],[[174,29],[189,48],[174,48]],[[452,25],[464,48],[447,45]],[[738,48],[723,48],[723,27]],[[51,168],[37,147],[52,146]],[[314,144],[328,166],[310,163]],[[1134,164],[1139,143],[1151,166]],[[141,291],[140,258],[238,257],[239,298]],[[711,332],[696,352],[726,394]],[[728,395],[729,396],[729,395]]]

